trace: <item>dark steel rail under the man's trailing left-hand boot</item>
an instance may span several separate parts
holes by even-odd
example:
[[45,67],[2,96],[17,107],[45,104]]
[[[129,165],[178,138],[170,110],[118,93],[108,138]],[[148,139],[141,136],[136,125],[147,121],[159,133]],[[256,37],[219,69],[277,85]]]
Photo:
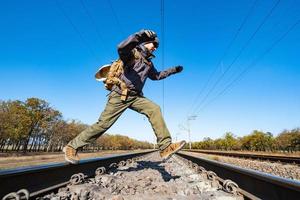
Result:
[[154,150],[139,153],[121,154],[102,158],[84,159],[77,165],[54,163],[36,167],[22,167],[0,171],[0,198],[21,189],[28,190],[30,199],[35,199],[50,191],[68,184],[70,177],[76,173],[83,173],[87,177],[95,175],[98,167],[109,168],[110,164],[132,159],[152,153]]

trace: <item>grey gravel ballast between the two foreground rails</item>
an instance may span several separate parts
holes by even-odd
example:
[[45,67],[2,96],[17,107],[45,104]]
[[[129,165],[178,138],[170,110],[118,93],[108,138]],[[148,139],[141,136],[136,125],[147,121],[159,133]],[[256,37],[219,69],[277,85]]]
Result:
[[104,174],[98,173],[94,178],[71,181],[58,193],[40,199],[241,200],[243,197],[224,191],[218,181],[197,173],[178,156],[162,162],[158,153],[152,153]]

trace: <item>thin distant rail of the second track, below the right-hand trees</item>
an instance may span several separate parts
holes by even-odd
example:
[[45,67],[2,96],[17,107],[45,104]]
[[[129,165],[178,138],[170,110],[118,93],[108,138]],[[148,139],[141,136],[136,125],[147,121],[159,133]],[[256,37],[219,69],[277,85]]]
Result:
[[269,160],[269,161],[280,161],[283,163],[295,163],[300,164],[300,157],[288,157],[288,156],[273,156],[273,155],[260,155],[260,154],[245,154],[245,153],[233,153],[233,152],[220,152],[220,151],[204,151],[204,150],[185,150],[195,153],[204,153],[220,156],[232,156],[238,158],[251,158],[259,160]]

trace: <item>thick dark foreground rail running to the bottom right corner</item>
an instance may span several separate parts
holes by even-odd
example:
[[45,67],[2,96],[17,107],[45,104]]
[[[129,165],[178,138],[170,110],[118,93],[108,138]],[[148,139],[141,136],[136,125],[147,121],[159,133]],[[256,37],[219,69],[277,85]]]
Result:
[[177,155],[204,167],[206,170],[215,172],[222,179],[230,179],[236,182],[242,190],[257,198],[294,200],[300,197],[300,181],[200,158],[199,156],[190,155],[188,152],[180,152]]

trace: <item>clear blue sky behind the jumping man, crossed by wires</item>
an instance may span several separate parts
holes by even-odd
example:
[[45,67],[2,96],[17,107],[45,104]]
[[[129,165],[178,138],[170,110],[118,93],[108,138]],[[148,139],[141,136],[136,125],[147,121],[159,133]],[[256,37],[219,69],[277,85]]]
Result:
[[[158,0],[1,0],[0,99],[38,97],[65,119],[92,124],[108,93],[94,73],[117,58],[119,42],[145,28],[164,41],[164,54],[160,45],[153,60],[157,69],[184,66],[164,84],[149,79],[144,88],[145,96],[163,107],[174,139],[188,139],[179,124],[187,126],[189,115],[197,115],[190,121],[193,141],[222,137],[227,131],[243,136],[254,129],[276,135],[300,126],[300,25],[251,64],[300,19],[299,1],[280,1],[277,6],[277,0],[257,1],[228,50],[254,0],[164,2],[161,38]],[[219,95],[247,67],[247,73]],[[148,120],[130,110],[108,132],[154,141]]]

